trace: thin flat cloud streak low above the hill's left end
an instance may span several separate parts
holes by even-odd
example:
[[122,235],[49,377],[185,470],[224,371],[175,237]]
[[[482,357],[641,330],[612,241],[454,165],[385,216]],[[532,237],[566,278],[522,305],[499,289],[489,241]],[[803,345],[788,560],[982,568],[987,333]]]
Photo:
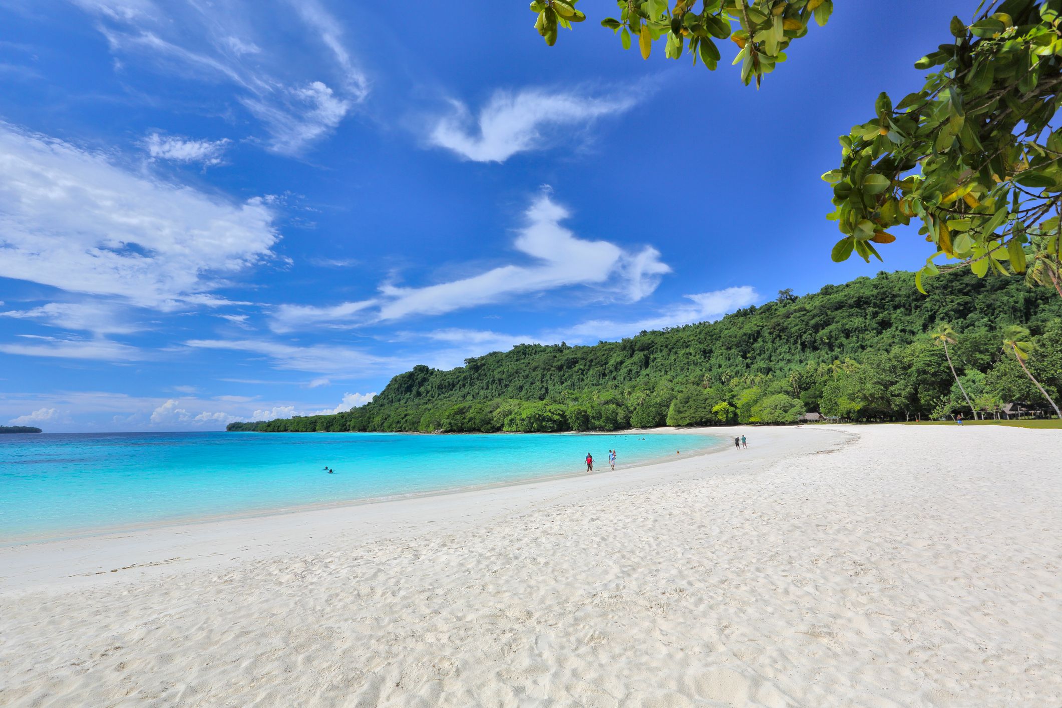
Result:
[[191,340],[185,344],[198,349],[229,349],[261,355],[272,361],[274,368],[313,374],[360,374],[393,366],[393,360],[336,344],[297,346],[267,340]]

